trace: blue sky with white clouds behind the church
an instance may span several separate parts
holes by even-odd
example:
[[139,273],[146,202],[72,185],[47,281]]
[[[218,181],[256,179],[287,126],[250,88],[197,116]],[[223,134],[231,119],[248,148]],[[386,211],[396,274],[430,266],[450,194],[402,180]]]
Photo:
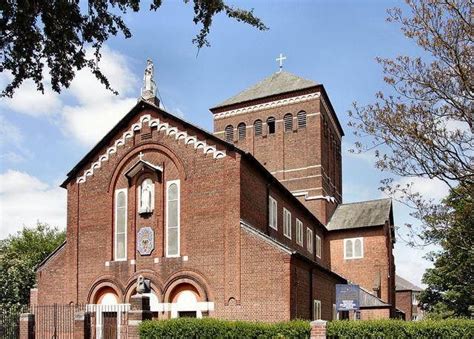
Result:
[[[354,139],[347,127],[351,103],[369,103],[386,89],[375,57],[418,55],[397,25],[386,22],[396,1],[235,1],[254,8],[270,28],[260,32],[221,14],[214,19],[210,48],[197,55],[191,40],[198,32],[192,6],[164,1],[158,12],[125,19],[133,37],[113,38],[104,49],[102,66],[120,95],[105,91],[87,72],[80,72],[60,95],[40,95],[31,83],[13,99],[0,99],[0,238],[36,220],[65,227],[65,192],[58,185],[66,173],[136,102],[147,58],[166,109],[212,130],[209,107],[284,69],[323,83],[342,126],[344,150]],[[8,80],[0,74],[0,85]],[[344,201],[384,197],[379,181],[388,174],[373,167],[371,154],[343,155]],[[407,182],[407,179],[399,179]],[[409,180],[408,180],[409,181]],[[416,179],[426,195],[439,198],[446,188]],[[395,205],[395,223],[413,222],[408,210]],[[401,230],[403,232],[403,228]],[[397,272],[420,283],[429,263],[425,250],[396,244]]]

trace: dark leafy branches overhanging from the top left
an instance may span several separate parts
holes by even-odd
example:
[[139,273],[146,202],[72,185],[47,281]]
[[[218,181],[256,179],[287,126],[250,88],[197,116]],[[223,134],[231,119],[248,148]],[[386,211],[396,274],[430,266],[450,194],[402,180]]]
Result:
[[[218,13],[247,23],[259,30],[266,30],[253,10],[227,5],[224,0],[183,0],[192,3],[194,24],[201,29],[193,43],[198,48],[209,46],[207,36],[212,19]],[[101,72],[98,62],[101,47],[110,36],[122,33],[132,36],[121,15],[140,10],[140,0],[5,0],[0,2],[0,72],[9,71],[13,80],[1,96],[12,96],[26,79],[35,82],[44,91],[43,71],[46,66],[51,76],[51,86],[60,92],[68,87],[76,72],[89,68],[96,78],[112,90],[108,79]],[[150,10],[161,7],[162,0],[150,0]],[[86,47],[94,49],[88,58]],[[112,90],[113,91],[113,90]]]

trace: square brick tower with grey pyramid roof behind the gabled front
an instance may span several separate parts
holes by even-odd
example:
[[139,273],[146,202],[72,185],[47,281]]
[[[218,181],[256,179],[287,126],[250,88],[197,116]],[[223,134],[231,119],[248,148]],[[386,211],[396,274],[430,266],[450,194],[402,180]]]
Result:
[[251,153],[327,224],[342,203],[344,132],[323,85],[281,71],[210,111],[214,135]]

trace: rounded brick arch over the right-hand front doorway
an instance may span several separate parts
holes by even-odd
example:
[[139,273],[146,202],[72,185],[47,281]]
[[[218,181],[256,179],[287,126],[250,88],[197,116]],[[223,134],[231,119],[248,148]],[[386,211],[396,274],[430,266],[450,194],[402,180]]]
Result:
[[164,299],[163,302],[171,302],[170,297],[173,290],[181,285],[189,284],[192,285],[199,293],[199,301],[210,301],[213,299],[209,285],[202,275],[193,271],[179,271],[171,275],[164,285]]

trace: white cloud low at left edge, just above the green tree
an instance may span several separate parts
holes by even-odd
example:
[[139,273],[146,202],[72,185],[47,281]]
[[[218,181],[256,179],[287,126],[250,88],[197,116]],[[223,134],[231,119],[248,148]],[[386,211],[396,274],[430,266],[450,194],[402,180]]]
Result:
[[0,239],[37,221],[66,226],[66,190],[24,172],[0,174]]

